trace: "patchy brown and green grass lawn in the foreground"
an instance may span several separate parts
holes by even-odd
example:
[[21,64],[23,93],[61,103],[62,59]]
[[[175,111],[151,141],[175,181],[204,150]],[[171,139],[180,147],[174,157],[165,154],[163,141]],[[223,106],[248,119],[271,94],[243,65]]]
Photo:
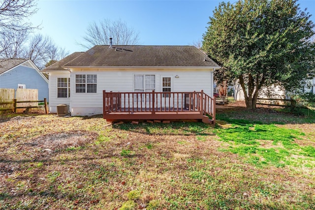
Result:
[[0,210],[315,209],[315,112],[201,122],[0,116]]

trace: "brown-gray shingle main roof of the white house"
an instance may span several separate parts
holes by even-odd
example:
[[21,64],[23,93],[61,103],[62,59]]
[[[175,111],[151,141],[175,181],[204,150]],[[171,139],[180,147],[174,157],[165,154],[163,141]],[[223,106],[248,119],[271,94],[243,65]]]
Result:
[[[206,61],[205,61],[206,57]],[[194,46],[96,45],[63,65],[70,66],[219,66]]]

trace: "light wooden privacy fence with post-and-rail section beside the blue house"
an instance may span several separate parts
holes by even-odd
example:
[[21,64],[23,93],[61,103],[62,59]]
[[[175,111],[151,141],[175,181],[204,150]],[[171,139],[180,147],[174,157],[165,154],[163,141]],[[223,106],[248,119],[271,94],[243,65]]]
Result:
[[[17,89],[16,97],[14,89],[0,89],[0,114],[3,112],[23,112],[29,108],[45,108],[45,113],[48,114],[48,104],[46,98],[38,100],[38,90],[36,89]],[[39,106],[38,103],[44,102],[44,106]]]

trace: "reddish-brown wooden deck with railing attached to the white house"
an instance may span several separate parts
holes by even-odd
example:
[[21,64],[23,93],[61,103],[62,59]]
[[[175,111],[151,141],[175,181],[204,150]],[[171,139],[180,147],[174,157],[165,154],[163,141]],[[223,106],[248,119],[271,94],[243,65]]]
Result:
[[[215,98],[200,92],[106,92],[103,118],[117,120],[202,120],[215,124]],[[209,119],[210,117],[210,119]]]

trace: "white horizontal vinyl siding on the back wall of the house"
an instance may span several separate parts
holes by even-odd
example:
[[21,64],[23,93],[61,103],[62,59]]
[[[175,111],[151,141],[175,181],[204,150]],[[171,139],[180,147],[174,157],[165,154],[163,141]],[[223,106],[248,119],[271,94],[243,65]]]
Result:
[[[67,73],[66,73],[67,72]],[[70,75],[71,74],[71,75]],[[97,75],[96,93],[76,93],[76,75]],[[143,76],[143,86],[135,86],[135,75]],[[147,77],[144,75],[153,75]],[[172,76],[174,75],[174,76]],[[175,78],[178,75],[179,78]],[[70,98],[57,98],[57,77],[70,76]],[[135,88],[142,91],[162,91],[161,77],[171,77],[172,91],[200,91],[212,95],[213,70],[212,69],[135,69],[135,68],[72,68],[68,71],[50,73],[50,102],[51,110],[56,110],[58,104],[70,104],[72,116],[97,115],[103,113],[103,90],[106,92],[133,92]],[[150,78],[150,79],[149,79]],[[147,81],[147,83],[145,83]],[[150,81],[150,82],[149,82]],[[155,88],[153,88],[155,87]],[[149,100],[147,100],[149,101]]]

